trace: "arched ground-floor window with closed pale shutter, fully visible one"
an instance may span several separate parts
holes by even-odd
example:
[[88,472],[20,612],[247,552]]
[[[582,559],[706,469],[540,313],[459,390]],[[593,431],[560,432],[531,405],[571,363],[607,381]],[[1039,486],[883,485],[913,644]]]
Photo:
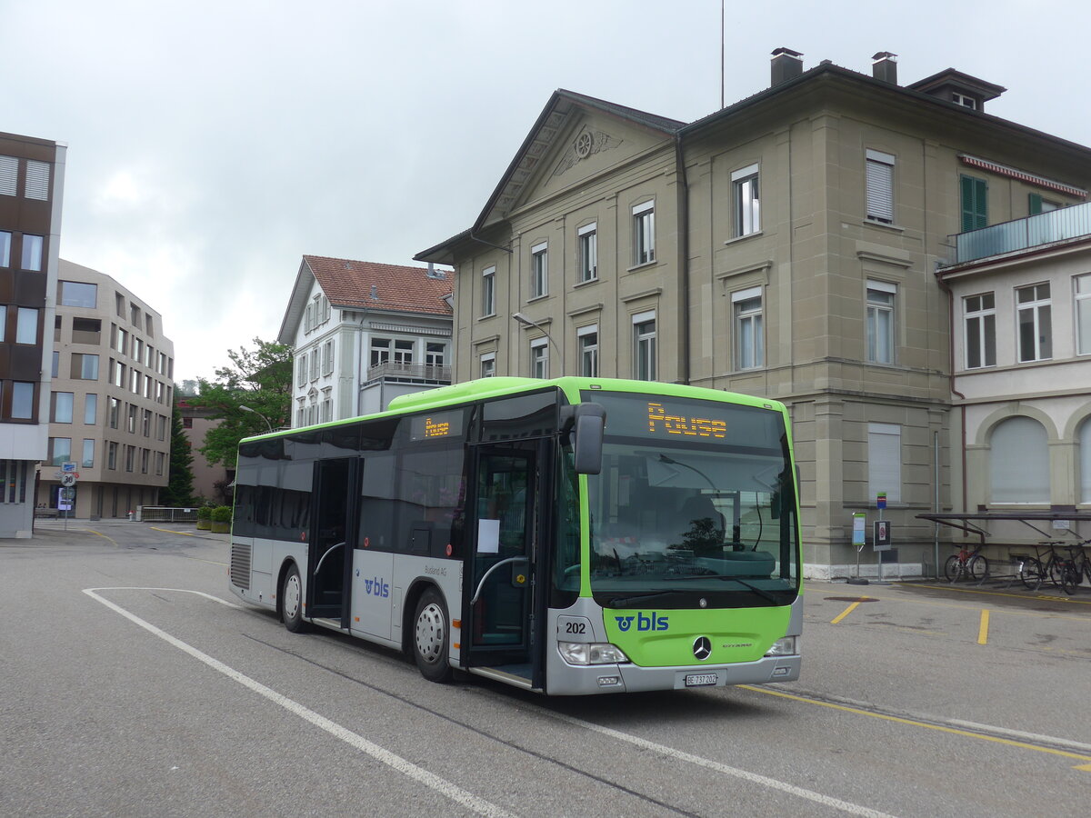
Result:
[[992,434],[993,503],[1048,503],[1050,447],[1032,418],[1008,418]]

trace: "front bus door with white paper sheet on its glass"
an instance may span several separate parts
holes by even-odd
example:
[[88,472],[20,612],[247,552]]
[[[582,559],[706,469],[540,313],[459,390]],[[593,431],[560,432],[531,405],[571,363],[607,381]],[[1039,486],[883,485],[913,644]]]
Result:
[[529,684],[533,560],[538,537],[537,446],[476,448],[476,521],[463,584],[463,664]]

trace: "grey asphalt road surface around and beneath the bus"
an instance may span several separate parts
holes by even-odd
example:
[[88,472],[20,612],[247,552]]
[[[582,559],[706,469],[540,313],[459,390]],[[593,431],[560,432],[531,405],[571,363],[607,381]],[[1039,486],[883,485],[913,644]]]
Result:
[[0,540],[5,815],[1088,813],[1087,589],[808,584],[798,683],[546,699],[289,634],[194,533]]

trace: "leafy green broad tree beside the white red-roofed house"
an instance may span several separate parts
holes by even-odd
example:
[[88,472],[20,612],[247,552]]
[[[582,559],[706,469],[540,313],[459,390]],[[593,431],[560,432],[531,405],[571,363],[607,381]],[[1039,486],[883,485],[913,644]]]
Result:
[[199,377],[200,394],[189,402],[212,409],[209,417],[220,421],[205,434],[201,454],[212,466],[233,469],[239,441],[289,423],[291,347],[254,338],[253,349],[228,350],[227,357],[231,365],[217,369],[214,382]]

